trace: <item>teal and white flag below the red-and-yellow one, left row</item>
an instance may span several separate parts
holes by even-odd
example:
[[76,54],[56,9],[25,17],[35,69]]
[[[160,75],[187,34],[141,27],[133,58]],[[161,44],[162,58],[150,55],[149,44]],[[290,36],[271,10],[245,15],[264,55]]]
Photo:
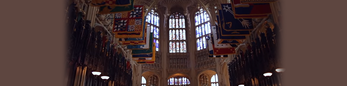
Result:
[[149,34],[150,36],[146,37],[146,44],[144,45],[128,45],[127,49],[131,50],[143,50],[143,49],[149,49],[150,46],[150,41],[153,40],[153,34],[150,34],[150,32],[146,33],[147,35]]

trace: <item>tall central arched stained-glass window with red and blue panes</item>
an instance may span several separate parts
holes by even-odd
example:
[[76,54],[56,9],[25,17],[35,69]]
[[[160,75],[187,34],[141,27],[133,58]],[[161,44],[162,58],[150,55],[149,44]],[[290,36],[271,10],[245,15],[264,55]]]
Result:
[[186,53],[186,26],[185,16],[180,13],[174,13],[169,18],[169,52]]

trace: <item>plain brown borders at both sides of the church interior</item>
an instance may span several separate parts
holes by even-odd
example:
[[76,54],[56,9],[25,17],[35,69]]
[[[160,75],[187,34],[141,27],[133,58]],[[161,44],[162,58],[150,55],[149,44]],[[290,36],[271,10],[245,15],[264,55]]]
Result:
[[[346,86],[345,0],[282,0],[286,86]],[[65,0],[2,0],[1,86],[63,84]]]

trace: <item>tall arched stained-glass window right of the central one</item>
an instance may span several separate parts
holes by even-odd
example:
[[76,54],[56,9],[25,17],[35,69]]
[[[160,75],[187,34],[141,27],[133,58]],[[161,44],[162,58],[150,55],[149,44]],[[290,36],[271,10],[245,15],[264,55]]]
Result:
[[200,9],[195,13],[196,49],[197,51],[206,49],[205,36],[211,33],[210,17],[207,12]]

